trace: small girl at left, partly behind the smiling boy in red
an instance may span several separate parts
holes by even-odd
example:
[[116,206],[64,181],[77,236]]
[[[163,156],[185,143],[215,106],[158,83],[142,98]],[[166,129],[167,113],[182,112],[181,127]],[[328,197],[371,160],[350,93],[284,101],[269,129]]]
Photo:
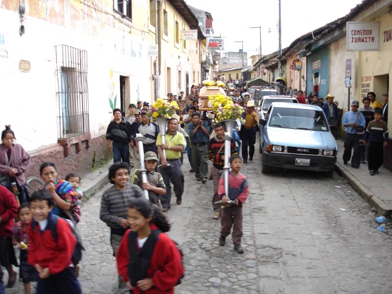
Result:
[[38,271],[27,263],[28,247],[30,239],[28,237],[28,229],[32,219],[30,212],[30,204],[22,203],[18,209],[18,221],[12,228],[12,244],[20,249],[20,269],[19,277],[25,286],[25,293],[30,294],[30,282],[38,280]]

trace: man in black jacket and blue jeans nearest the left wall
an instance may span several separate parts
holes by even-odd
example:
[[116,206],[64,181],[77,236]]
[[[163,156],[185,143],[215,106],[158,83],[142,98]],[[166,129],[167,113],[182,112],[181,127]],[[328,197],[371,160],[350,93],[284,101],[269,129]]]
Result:
[[113,141],[114,162],[129,164],[129,143],[132,139],[131,125],[122,117],[121,109],[113,109],[114,120],[106,130],[107,148],[112,151],[110,141]]

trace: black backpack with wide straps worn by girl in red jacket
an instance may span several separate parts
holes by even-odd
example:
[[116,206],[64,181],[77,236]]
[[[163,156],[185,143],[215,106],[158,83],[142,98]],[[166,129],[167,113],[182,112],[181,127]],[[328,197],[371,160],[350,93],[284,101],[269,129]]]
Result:
[[[162,232],[159,229],[153,230],[151,234],[148,236],[146,243],[140,249],[137,250],[137,233],[135,231],[130,231],[128,235],[128,250],[129,250],[129,264],[128,264],[128,277],[130,278],[131,285],[135,287],[137,282],[143,280],[147,276],[147,269],[152,257],[152,253],[154,252],[155,244],[158,241],[158,236]],[[183,261],[184,255],[182,254],[181,249],[179,248],[178,244],[173,241],[177,247],[181,255],[181,262]],[[184,265],[183,265],[184,267]],[[181,278],[177,281],[176,286],[181,284]]]

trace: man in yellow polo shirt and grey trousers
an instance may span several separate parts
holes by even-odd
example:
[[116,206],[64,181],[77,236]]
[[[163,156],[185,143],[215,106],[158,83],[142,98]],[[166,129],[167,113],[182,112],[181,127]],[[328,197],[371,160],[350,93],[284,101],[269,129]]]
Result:
[[[177,198],[177,205],[181,204],[182,194],[184,193],[184,173],[182,172],[180,157],[185,146],[185,138],[177,130],[178,121],[175,118],[171,118],[168,122],[168,131],[165,135],[166,143],[162,144],[161,135],[156,140],[159,158],[161,159],[161,166],[158,167],[158,172],[162,175],[166,185],[166,194],[160,196],[163,212],[169,211],[171,206],[171,183],[173,184],[174,194]],[[166,158],[163,155],[163,150],[166,150]]]

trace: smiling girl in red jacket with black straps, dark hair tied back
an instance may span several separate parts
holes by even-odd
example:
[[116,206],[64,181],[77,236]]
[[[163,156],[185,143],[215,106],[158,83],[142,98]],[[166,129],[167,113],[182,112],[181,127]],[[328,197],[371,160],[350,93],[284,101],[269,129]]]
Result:
[[165,232],[170,223],[145,198],[130,200],[127,230],[116,255],[117,269],[134,294],[174,293],[184,274],[182,255]]

